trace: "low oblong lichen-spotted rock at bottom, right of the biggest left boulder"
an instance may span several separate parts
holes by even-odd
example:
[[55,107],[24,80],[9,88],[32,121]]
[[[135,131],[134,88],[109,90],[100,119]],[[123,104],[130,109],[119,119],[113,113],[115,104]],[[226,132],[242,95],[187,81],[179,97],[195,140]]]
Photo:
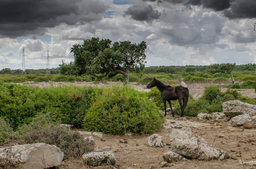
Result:
[[90,152],[82,155],[85,164],[90,166],[114,165],[115,155],[111,152]]

